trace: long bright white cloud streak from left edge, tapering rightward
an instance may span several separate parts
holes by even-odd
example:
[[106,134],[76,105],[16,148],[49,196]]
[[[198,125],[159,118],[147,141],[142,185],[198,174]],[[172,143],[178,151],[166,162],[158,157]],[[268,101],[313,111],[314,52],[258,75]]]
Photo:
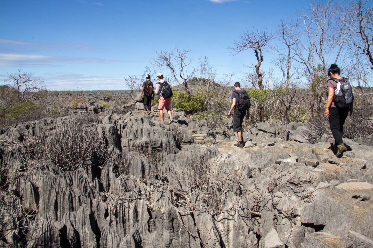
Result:
[[126,61],[103,58],[78,58],[64,56],[50,56],[41,54],[9,54],[0,53],[0,67],[51,67],[63,64],[107,64],[107,63],[135,63],[144,61]]

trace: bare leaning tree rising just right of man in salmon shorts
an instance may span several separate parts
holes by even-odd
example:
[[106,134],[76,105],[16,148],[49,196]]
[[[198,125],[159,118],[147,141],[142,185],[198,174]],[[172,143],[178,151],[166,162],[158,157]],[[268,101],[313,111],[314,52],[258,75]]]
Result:
[[194,71],[186,71],[186,67],[192,62],[192,59],[188,57],[189,52],[191,52],[189,48],[181,49],[178,46],[175,46],[170,51],[162,50],[157,52],[158,56],[154,59],[152,65],[157,68],[168,68],[179,86],[184,88],[185,92],[191,96],[188,80],[194,76]]

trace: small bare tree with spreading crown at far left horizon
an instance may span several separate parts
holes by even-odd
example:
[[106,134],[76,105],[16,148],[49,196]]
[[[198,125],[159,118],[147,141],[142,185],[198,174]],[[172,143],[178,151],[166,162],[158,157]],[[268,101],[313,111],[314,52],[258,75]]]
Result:
[[11,83],[17,89],[19,102],[31,100],[31,92],[43,90],[45,88],[44,79],[33,77],[33,75],[33,73],[25,73],[18,70],[17,73],[8,73],[8,78],[4,80],[4,82]]

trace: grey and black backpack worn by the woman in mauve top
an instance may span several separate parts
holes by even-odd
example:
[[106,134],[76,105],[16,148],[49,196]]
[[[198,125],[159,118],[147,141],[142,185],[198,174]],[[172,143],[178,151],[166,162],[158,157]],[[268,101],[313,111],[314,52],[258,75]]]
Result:
[[342,77],[341,80],[330,78],[337,83],[334,89],[333,102],[338,107],[352,107],[354,104],[354,94],[352,87],[347,78]]

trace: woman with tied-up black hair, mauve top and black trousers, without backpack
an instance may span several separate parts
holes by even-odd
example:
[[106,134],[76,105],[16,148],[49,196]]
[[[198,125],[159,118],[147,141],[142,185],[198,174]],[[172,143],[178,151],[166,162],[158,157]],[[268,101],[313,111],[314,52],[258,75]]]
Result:
[[[332,64],[327,70],[327,75],[330,79],[327,81],[328,97],[325,106],[325,117],[329,118],[330,130],[332,131],[335,146],[337,147],[336,157],[342,157],[343,152],[347,151],[346,146],[343,143],[342,132],[343,125],[348,116],[348,112],[352,115],[352,106],[351,107],[339,107],[333,101],[334,91],[337,87],[337,82],[332,78],[336,78],[339,81],[344,79],[339,76],[341,70],[339,70],[338,65]],[[346,78],[347,80],[347,78]]]

